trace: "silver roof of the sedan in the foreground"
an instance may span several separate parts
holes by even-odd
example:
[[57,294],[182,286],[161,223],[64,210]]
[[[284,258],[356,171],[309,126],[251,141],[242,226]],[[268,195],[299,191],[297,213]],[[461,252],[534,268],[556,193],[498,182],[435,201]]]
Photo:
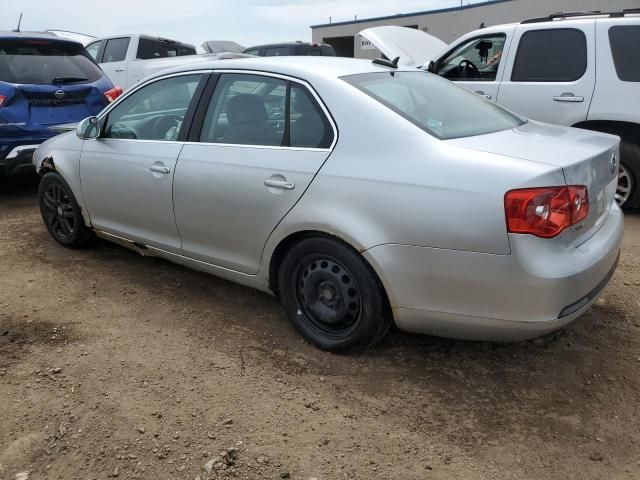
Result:
[[[339,78],[345,75],[361,73],[419,71],[415,67],[400,67],[397,69],[373,63],[371,60],[344,57],[248,57],[228,60],[212,60],[211,57],[201,55],[202,60],[185,60],[185,63],[163,70],[152,75],[151,78],[172,73],[182,73],[196,70],[255,70],[275,73],[312,81],[313,79]],[[186,59],[187,57],[185,57]]]

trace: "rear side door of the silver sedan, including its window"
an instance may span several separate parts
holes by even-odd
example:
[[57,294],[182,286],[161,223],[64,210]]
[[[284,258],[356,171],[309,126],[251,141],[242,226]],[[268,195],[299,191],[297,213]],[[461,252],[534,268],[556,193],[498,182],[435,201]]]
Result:
[[269,235],[328,158],[336,130],[299,80],[221,73],[206,99],[174,179],[183,254],[255,274]]

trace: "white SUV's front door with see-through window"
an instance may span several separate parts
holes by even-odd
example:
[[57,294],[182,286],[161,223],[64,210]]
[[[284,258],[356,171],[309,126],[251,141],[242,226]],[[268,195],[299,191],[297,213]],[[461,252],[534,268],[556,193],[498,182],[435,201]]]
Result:
[[511,32],[499,32],[464,40],[436,63],[435,73],[495,101],[510,37]]

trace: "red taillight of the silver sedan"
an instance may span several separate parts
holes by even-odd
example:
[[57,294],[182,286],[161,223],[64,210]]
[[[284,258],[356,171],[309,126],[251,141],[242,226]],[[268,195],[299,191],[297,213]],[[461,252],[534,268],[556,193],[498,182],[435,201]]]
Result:
[[504,196],[509,233],[529,233],[553,238],[589,214],[589,196],[584,185],[523,188]]

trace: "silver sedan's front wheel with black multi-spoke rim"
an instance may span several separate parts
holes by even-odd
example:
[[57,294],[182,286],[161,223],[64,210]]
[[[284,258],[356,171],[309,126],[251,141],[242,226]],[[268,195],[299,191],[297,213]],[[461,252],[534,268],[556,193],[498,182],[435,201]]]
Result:
[[67,248],[82,248],[93,238],[84,223],[71,187],[58,173],[49,172],[38,187],[40,214],[56,242]]

